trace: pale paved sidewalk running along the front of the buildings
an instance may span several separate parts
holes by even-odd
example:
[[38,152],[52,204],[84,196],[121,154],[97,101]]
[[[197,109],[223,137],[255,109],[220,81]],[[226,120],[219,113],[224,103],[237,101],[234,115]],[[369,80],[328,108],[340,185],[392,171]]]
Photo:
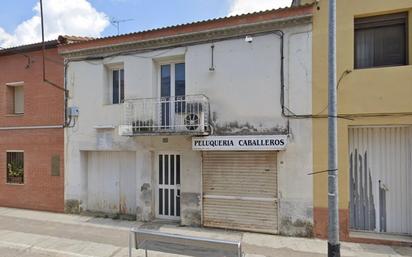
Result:
[[[218,229],[179,227],[173,224],[138,223],[79,215],[56,214],[0,207],[0,256],[24,257],[126,257],[130,227],[241,240],[248,257],[326,256],[326,241]],[[342,243],[342,256],[412,256],[412,248]],[[134,251],[133,256],[144,256]],[[177,256],[150,252],[149,256]]]

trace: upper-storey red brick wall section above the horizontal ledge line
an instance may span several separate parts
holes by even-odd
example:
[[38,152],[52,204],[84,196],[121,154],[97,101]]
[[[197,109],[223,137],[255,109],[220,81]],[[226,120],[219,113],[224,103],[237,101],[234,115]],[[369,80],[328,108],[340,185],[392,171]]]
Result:
[[[48,49],[47,79],[63,87],[63,59],[57,48]],[[64,93],[43,82],[41,51],[0,56],[0,127],[25,125],[58,125],[64,119]],[[24,81],[24,115],[8,115],[6,83]]]

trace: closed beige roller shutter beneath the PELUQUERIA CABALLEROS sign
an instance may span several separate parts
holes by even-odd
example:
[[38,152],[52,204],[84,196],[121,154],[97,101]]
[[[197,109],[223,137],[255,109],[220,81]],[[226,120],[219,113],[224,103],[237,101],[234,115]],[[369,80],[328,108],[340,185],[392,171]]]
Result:
[[275,152],[203,153],[203,224],[278,233]]

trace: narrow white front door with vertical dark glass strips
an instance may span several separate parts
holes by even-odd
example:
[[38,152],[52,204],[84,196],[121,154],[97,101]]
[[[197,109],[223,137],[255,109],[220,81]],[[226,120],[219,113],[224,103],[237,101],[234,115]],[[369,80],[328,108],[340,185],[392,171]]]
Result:
[[180,155],[159,154],[156,216],[166,219],[180,217]]

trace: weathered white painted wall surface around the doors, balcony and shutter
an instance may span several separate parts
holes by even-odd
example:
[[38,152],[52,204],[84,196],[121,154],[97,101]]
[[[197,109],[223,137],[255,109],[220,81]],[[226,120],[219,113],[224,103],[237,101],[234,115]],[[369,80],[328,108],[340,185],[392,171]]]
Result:
[[[299,114],[312,109],[311,25],[285,28],[286,105]],[[287,128],[280,108],[280,39],[274,34],[255,36],[252,43],[243,38],[215,42],[215,71],[210,72],[211,44],[199,44],[169,50],[136,53],[106,58],[103,61],[70,62],[67,85],[69,106],[77,106],[80,116],[74,128],[66,129],[66,200],[84,201],[85,176],[81,151],[136,152],[137,206],[143,219],[150,219],[153,209],[143,203],[140,188],[153,183],[151,169],[156,153],[183,151],[182,192],[201,193],[200,153],[191,151],[185,136],[118,136],[122,105],[108,105],[107,65],[123,63],[126,98],[158,97],[158,64],[171,59],[186,63],[186,94],[205,94],[210,99],[215,133],[277,133]],[[245,124],[249,124],[246,129]],[[221,130],[228,124],[235,125]],[[115,129],[100,130],[100,125]],[[103,132],[105,131],[105,132]],[[98,144],[99,133],[106,133],[107,144]],[[279,153],[280,215],[293,221],[312,222],[312,123],[290,120],[290,144]],[[84,162],[84,161],[83,161]],[[154,188],[151,188],[154,190]],[[153,201],[154,199],[152,199]],[[86,206],[83,206],[86,207]],[[139,213],[139,210],[138,210]]]

